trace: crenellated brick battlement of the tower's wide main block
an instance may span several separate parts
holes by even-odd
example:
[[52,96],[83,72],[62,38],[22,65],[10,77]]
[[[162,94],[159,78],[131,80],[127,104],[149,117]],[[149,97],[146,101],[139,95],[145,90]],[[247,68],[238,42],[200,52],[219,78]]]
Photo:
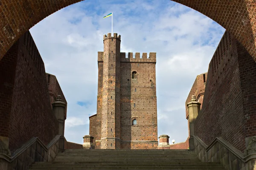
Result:
[[[156,63],[157,62],[157,53],[149,53],[149,58],[148,58],[148,53],[142,53],[142,55],[140,55],[140,53],[135,53],[135,58],[134,57],[134,53],[130,53],[128,52],[128,55],[126,55],[127,53],[125,52],[121,52],[120,53],[120,62],[151,62],[151,63]],[[103,62],[103,56],[104,56],[104,52],[99,51],[98,52],[98,62]]]

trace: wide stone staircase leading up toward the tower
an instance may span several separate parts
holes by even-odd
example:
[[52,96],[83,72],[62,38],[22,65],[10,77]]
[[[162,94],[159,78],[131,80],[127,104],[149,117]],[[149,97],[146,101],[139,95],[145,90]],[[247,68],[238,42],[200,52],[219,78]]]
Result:
[[36,162],[29,170],[225,170],[201,162],[189,150],[82,150],[59,153],[53,162]]

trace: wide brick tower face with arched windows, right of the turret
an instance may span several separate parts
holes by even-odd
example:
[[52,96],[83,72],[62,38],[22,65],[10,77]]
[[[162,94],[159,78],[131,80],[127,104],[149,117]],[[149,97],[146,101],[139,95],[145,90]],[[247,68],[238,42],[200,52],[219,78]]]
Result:
[[[156,149],[156,54],[150,53],[151,59],[147,59],[146,53],[143,58],[140,53],[135,58],[132,53],[128,56],[121,53],[121,148]],[[136,79],[132,79],[133,71],[137,72]],[[137,125],[132,125],[133,119]]]

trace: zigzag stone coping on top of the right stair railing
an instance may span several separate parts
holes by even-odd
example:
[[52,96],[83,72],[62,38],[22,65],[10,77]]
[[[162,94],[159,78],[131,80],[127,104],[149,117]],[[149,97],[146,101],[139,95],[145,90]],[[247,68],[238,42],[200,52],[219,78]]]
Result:
[[194,139],[197,140],[206,151],[210,150],[210,148],[217,142],[219,142],[220,144],[222,144],[224,147],[226,147],[231,153],[233,153],[235,156],[237,156],[239,159],[241,159],[241,161],[243,161],[244,163],[246,163],[247,161],[250,161],[251,159],[256,159],[256,153],[250,153],[247,156],[244,156],[244,154],[236,149],[236,147],[233,147],[232,144],[228,143],[227,141],[225,141],[224,139],[222,139],[221,137],[216,137],[212,143],[210,143],[208,146],[207,144],[205,144],[198,136],[193,135]]

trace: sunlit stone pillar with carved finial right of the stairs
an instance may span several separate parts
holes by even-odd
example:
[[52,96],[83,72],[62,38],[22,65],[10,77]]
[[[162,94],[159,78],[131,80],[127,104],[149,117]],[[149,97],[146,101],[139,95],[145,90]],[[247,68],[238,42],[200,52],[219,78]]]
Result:
[[201,106],[201,103],[197,102],[195,100],[195,96],[192,95],[191,102],[187,104],[188,111],[189,111],[189,150],[195,149],[194,137],[193,137],[193,135],[195,135],[194,121],[198,116],[198,113],[200,112],[200,106]]

